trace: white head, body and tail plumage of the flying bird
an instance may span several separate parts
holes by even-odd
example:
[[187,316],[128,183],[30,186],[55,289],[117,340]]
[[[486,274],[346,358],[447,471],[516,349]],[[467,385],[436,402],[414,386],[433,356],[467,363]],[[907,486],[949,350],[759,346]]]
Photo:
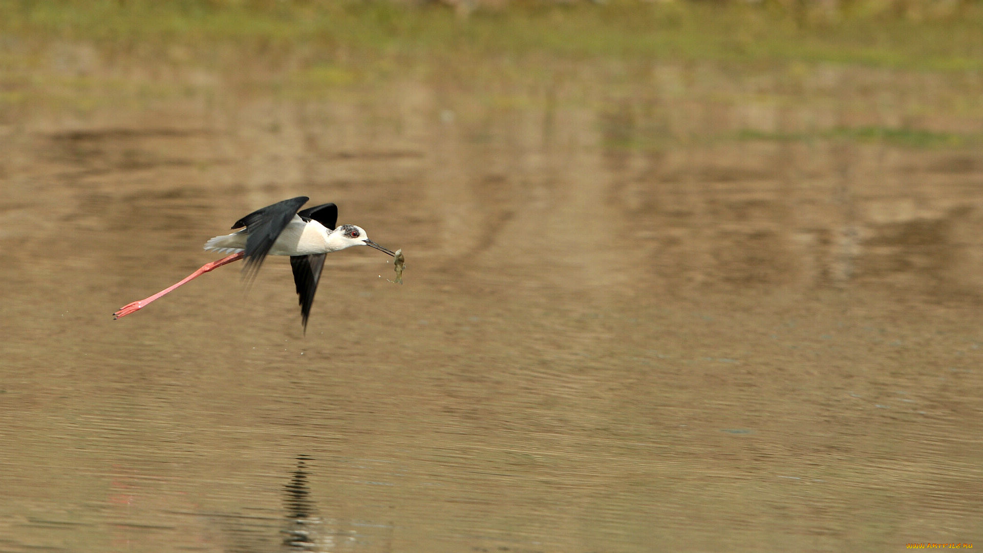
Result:
[[[346,235],[355,229],[357,238]],[[204,249],[211,252],[231,254],[246,251],[247,229],[232,234],[215,236],[204,243]],[[306,256],[336,252],[352,246],[365,245],[369,236],[361,226],[346,224],[335,230],[327,228],[317,220],[304,220],[298,215],[283,227],[283,231],[273,242],[269,255]]]

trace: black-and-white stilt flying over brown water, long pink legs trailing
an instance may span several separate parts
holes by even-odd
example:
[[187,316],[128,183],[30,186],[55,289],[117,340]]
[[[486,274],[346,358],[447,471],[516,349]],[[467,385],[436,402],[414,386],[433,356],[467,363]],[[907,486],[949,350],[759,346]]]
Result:
[[334,204],[321,204],[298,212],[309,199],[298,196],[284,200],[237,220],[232,228],[240,230],[215,236],[204,243],[205,250],[228,253],[229,256],[206,263],[201,269],[175,284],[142,300],[124,305],[113,313],[113,319],[139,311],[177,287],[234,261],[246,260],[243,276],[247,281],[252,281],[267,255],[290,256],[294,283],[297,284],[297,295],[300,296],[304,332],[307,332],[307,321],[311,315],[314,294],[318,291],[318,279],[324,268],[325,255],[364,245],[395,256],[393,252],[370,240],[361,226],[342,224],[336,227],[338,207]]

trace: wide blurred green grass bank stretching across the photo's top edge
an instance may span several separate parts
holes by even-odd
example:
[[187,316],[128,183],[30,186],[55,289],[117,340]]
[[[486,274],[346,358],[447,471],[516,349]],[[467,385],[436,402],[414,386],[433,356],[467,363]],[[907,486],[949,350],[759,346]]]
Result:
[[812,26],[770,6],[534,3],[462,20],[442,6],[373,1],[21,0],[0,3],[0,32],[27,41],[87,40],[125,50],[179,43],[206,52],[215,43],[232,43],[255,53],[304,46],[437,59],[536,54],[983,69],[978,4],[949,19],[857,16]]

